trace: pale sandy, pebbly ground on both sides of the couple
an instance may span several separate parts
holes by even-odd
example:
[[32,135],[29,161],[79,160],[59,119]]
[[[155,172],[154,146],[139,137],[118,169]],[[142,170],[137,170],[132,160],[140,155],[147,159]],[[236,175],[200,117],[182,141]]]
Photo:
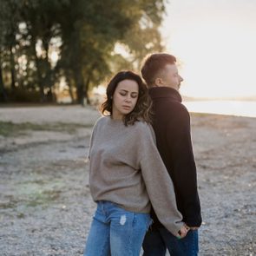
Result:
[[[95,203],[80,106],[0,108],[0,254],[82,255]],[[200,255],[256,255],[256,118],[192,114]]]

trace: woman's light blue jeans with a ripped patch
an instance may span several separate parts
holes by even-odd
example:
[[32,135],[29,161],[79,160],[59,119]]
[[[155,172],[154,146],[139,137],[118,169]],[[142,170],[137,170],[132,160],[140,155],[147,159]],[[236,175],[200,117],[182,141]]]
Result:
[[151,224],[148,213],[128,212],[100,201],[93,218],[84,256],[139,256]]

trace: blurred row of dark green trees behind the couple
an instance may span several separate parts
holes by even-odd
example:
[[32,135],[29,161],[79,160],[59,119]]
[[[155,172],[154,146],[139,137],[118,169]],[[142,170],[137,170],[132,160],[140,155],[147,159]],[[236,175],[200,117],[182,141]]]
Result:
[[89,101],[106,77],[163,49],[164,11],[164,0],[0,0],[0,102],[55,102],[60,84]]

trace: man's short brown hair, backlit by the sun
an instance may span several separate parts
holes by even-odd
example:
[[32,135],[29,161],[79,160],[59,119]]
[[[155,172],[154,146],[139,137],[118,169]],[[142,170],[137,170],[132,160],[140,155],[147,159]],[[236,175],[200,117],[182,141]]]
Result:
[[146,56],[142,62],[141,75],[148,87],[154,86],[157,75],[167,64],[174,64],[175,62],[176,58],[167,53],[154,53]]

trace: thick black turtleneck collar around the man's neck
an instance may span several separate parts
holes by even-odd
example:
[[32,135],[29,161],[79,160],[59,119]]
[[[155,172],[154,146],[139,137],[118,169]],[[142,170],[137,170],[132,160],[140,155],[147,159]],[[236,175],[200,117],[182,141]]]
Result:
[[156,98],[169,98],[176,102],[182,102],[180,93],[169,87],[152,87],[149,89],[149,95],[153,100]]

